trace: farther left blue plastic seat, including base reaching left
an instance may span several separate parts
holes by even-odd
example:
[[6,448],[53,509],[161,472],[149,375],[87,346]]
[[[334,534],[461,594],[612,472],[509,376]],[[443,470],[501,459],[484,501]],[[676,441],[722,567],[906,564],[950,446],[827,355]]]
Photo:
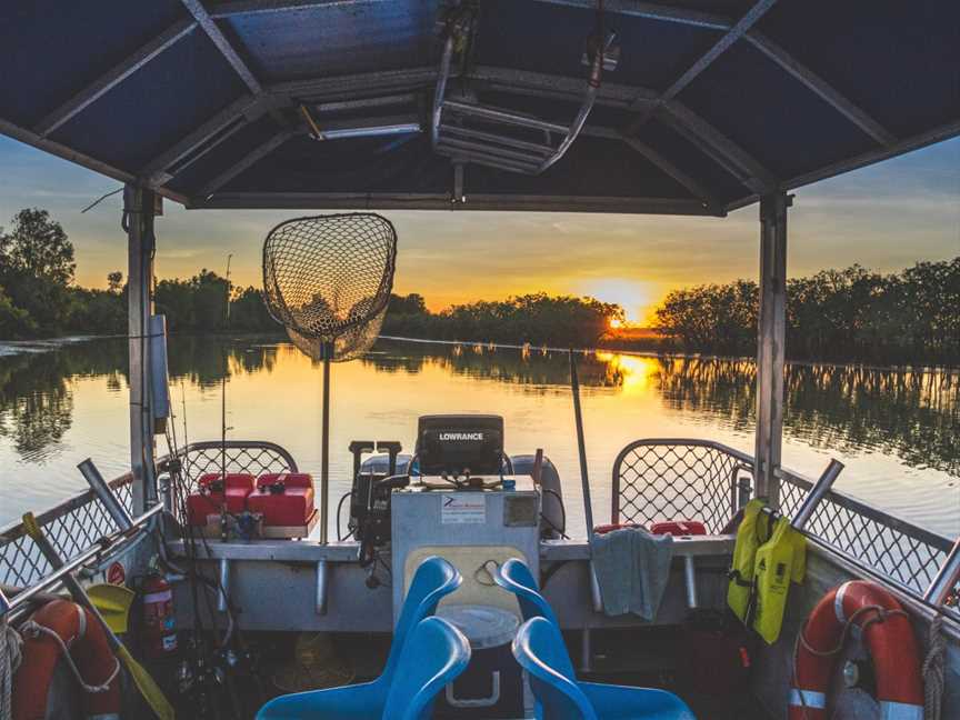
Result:
[[[462,582],[463,578],[460,572],[447,560],[438,556],[426,558],[410,581],[410,589],[403,600],[400,618],[393,629],[390,654],[379,678],[371,682],[362,682],[346,688],[311,690],[274,698],[260,709],[260,712],[257,713],[258,720],[334,717],[379,720],[387,706],[391,689],[398,679],[407,637],[414,627],[419,627],[424,618],[437,611],[437,606],[443,597],[457,590]],[[334,714],[329,714],[333,708],[329,704],[333,693],[337,694],[338,702],[343,703],[344,709],[337,709]],[[356,712],[346,709],[352,707],[357,708]]]

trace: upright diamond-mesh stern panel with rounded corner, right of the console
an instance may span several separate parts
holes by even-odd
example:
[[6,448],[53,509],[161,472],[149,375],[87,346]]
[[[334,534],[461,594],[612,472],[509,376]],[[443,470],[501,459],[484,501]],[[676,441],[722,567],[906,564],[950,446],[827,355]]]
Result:
[[613,462],[611,522],[700,520],[718,533],[737,512],[749,456],[701,440],[638,440]]

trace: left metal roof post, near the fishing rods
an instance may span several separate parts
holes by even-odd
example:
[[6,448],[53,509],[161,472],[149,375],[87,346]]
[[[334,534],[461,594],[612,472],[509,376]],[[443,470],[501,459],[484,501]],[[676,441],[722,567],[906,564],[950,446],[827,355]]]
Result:
[[153,464],[153,412],[150,396],[150,316],[153,313],[154,193],[128,183],[123,189],[127,230],[127,336],[130,352],[130,469],[133,474],[131,514],[143,514],[157,498]]

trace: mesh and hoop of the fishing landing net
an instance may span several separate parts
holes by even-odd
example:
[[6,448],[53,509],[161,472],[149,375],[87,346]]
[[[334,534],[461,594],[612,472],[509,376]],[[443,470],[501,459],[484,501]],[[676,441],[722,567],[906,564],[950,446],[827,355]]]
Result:
[[290,340],[314,360],[367,350],[393,288],[397,232],[372,212],[297,218],[263,243],[263,297]]

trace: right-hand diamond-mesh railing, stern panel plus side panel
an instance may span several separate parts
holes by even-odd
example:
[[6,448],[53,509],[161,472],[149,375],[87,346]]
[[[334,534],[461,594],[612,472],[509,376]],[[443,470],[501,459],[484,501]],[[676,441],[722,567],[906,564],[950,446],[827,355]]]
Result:
[[[627,446],[613,464],[612,522],[649,524],[658,520],[702,520],[721,532],[750,497],[746,480],[753,459],[708,440],[650,439]],[[813,482],[787,470],[777,473],[780,510],[793,516]],[[859,568],[937,604],[956,602],[960,551],[954,541],[834,490],[827,492],[806,523],[804,533]],[[941,570],[949,570],[949,572]],[[944,578],[947,578],[944,580]],[[943,586],[953,583],[952,589]]]

